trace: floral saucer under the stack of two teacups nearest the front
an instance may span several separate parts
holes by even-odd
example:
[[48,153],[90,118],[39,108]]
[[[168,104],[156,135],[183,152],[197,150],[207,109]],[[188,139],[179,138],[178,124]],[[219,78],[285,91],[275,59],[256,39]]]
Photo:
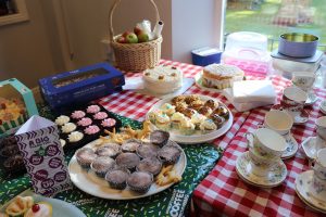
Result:
[[247,151],[241,154],[236,162],[236,170],[240,178],[246,180],[247,183],[262,188],[273,188],[279,186],[287,177],[287,167],[281,159],[279,159],[265,177],[252,174],[251,169],[251,159],[249,151]]

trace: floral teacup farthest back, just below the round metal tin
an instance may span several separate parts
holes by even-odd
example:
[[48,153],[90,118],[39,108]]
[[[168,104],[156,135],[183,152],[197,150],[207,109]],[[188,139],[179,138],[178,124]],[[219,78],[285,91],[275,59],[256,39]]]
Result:
[[305,92],[313,87],[315,79],[316,79],[315,73],[311,73],[311,72],[292,73],[292,84]]

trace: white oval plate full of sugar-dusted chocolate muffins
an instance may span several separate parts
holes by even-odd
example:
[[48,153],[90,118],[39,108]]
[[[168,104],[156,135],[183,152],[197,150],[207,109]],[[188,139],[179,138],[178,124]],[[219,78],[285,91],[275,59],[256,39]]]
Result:
[[102,199],[133,200],[159,193],[181,180],[186,154],[170,133],[122,143],[100,138],[78,149],[68,164],[72,182]]

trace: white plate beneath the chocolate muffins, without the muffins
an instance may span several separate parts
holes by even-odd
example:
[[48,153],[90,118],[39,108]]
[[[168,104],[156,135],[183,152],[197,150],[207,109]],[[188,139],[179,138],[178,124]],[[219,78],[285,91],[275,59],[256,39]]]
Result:
[[[95,140],[85,146],[87,148],[93,148],[96,144],[99,143],[99,140]],[[184,150],[181,150],[181,155],[179,161],[174,165],[174,168],[176,170],[176,174],[183,175],[186,165],[187,165],[187,158]],[[160,187],[155,183],[153,183],[150,188],[150,190],[145,194],[139,194],[136,192],[130,191],[128,188],[125,190],[115,190],[109,187],[109,183],[103,179],[99,178],[95,173],[92,173],[90,169],[87,171],[86,169],[83,169],[79,164],[77,163],[76,156],[74,155],[70,162],[68,165],[68,173],[71,176],[72,182],[82,191],[91,194],[93,196],[102,197],[102,199],[111,199],[111,200],[131,200],[131,199],[140,199],[145,196],[149,196],[155,193],[159,193],[161,191],[164,191],[165,189],[170,188],[174,183],[166,184],[163,187]]]

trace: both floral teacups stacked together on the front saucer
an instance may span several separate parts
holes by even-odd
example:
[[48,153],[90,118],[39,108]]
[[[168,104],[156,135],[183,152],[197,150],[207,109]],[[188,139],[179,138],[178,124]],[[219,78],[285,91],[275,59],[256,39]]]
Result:
[[280,159],[286,150],[285,139],[268,128],[259,128],[254,133],[246,133],[249,144],[251,173],[265,177]]

